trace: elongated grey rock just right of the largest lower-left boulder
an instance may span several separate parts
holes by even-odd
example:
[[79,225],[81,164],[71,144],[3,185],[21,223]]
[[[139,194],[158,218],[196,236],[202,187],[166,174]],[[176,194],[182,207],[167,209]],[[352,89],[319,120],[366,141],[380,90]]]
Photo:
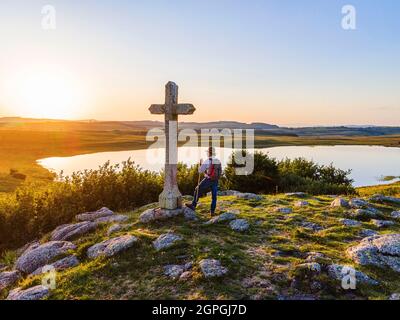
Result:
[[91,246],[87,250],[87,256],[90,259],[97,257],[111,257],[121,251],[124,251],[134,245],[138,239],[132,235],[124,235]]

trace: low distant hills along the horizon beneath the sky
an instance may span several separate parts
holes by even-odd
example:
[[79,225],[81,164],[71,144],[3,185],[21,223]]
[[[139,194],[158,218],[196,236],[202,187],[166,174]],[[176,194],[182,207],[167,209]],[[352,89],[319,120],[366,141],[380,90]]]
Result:
[[[1,129],[18,129],[25,131],[143,131],[154,127],[163,127],[163,121],[98,121],[32,119],[20,117],[0,118]],[[181,129],[254,129],[257,135],[287,136],[382,136],[400,134],[400,127],[349,125],[335,127],[279,127],[277,125],[238,121],[180,122]]]

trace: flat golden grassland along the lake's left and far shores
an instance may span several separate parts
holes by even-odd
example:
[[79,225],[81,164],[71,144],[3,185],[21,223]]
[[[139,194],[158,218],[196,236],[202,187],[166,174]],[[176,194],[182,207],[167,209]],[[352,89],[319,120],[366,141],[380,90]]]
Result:
[[[55,123],[57,124],[57,123]],[[53,124],[53,125],[55,125]],[[39,130],[40,129],[40,130]],[[79,127],[78,127],[79,129]],[[51,131],[53,130],[53,131]],[[304,145],[383,145],[400,146],[400,136],[379,137],[292,137],[256,136],[255,146],[304,146]],[[14,191],[24,183],[49,183],[54,175],[36,163],[46,157],[65,157],[79,154],[143,149],[148,146],[143,130],[63,130],[49,126],[0,129],[0,195]],[[20,180],[10,175],[10,169],[27,176]]]

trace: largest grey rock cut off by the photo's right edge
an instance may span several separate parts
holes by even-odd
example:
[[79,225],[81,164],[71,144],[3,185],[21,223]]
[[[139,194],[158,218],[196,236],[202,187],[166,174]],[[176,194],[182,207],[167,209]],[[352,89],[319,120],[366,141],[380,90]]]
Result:
[[388,267],[400,272],[400,234],[368,237],[346,252],[360,265]]

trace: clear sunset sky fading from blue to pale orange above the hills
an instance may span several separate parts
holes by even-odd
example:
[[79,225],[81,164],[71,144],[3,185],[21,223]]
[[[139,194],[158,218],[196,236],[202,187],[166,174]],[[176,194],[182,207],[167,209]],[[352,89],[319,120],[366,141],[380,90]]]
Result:
[[0,117],[160,120],[171,80],[182,121],[400,125],[399,38],[398,0],[1,0]]

